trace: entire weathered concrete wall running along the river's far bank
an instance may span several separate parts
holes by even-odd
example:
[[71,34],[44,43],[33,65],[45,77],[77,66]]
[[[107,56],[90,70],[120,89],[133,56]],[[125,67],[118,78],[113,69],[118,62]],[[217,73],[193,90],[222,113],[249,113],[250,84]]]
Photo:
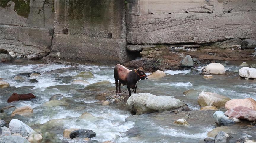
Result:
[[254,0],[1,0],[0,47],[123,63],[126,47],[256,38],[255,15]]

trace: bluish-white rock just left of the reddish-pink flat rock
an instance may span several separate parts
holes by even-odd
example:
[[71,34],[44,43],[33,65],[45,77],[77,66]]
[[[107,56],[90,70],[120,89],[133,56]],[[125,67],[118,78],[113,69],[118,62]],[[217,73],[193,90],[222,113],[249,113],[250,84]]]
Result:
[[234,123],[234,121],[229,120],[228,117],[222,111],[216,111],[213,114],[213,118],[217,121],[219,126],[222,126],[222,125],[226,126],[228,124],[233,124]]

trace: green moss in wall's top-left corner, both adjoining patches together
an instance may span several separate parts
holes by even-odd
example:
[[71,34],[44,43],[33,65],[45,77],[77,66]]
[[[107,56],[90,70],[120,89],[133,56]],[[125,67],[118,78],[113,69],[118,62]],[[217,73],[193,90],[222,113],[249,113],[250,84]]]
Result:
[[0,6],[3,8],[9,7],[10,5],[7,5],[9,1],[12,1],[15,3],[14,11],[25,18],[28,18],[28,15],[30,13],[30,0],[1,0]]

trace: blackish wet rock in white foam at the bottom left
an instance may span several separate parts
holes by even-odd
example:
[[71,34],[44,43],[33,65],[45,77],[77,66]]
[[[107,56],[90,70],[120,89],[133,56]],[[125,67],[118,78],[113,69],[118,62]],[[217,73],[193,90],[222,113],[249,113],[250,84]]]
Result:
[[93,132],[92,130],[85,130],[85,129],[79,129],[79,130],[75,130],[73,132],[70,133],[69,137],[71,139],[75,138],[75,137],[79,137],[79,138],[93,138],[96,137],[96,133]]

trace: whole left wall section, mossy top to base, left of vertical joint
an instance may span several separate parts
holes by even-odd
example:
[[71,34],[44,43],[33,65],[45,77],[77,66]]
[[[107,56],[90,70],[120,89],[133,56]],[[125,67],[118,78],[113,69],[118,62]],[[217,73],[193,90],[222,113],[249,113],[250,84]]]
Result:
[[20,54],[48,53],[52,45],[52,0],[1,1],[0,47]]

